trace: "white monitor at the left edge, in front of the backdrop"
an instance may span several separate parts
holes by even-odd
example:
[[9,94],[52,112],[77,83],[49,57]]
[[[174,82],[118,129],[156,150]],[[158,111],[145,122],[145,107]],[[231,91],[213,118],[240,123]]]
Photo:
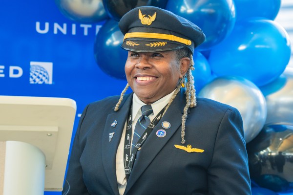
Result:
[[76,102],[68,98],[0,96],[0,142],[20,141],[45,155],[45,191],[62,191]]

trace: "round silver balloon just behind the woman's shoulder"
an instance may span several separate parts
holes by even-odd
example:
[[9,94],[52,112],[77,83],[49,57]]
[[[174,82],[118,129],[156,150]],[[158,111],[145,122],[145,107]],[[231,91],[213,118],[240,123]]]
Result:
[[237,108],[243,119],[245,141],[250,142],[262,130],[266,117],[266,100],[252,82],[241,77],[218,77],[206,85],[199,96]]

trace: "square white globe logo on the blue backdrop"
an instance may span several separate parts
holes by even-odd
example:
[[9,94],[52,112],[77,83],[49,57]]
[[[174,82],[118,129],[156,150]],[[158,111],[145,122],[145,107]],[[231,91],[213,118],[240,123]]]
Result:
[[30,84],[52,84],[51,62],[30,62],[29,83]]

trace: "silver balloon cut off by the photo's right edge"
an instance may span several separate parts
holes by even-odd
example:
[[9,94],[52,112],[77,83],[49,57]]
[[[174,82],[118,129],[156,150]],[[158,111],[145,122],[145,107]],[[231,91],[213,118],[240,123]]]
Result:
[[286,68],[278,79],[260,89],[267,101],[266,125],[293,125],[293,68]]

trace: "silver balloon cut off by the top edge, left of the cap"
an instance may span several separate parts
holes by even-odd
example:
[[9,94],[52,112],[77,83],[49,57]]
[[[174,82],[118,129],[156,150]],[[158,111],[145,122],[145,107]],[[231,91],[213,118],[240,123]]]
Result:
[[108,18],[103,0],[55,0],[55,3],[73,21],[93,23]]

